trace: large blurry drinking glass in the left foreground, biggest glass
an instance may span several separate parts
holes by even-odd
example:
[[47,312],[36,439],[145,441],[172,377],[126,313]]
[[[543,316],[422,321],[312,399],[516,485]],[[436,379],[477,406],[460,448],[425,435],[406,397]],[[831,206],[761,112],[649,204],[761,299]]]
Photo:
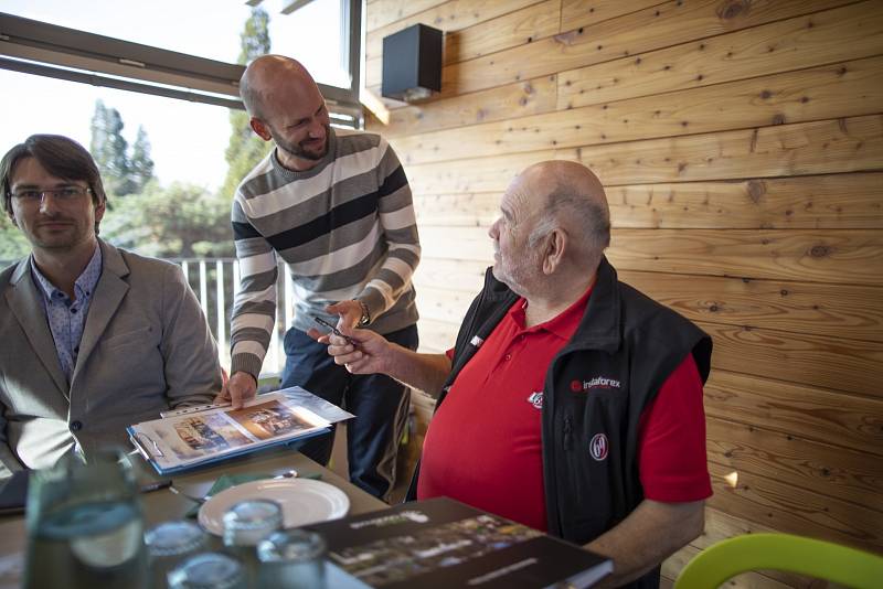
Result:
[[31,473],[25,588],[142,588],[143,518],[121,450],[67,453]]

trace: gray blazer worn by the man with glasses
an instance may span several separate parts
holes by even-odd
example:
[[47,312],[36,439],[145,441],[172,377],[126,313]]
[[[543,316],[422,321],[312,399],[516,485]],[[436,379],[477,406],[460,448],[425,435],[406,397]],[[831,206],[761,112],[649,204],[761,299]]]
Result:
[[129,447],[126,426],[221,389],[205,315],[170,263],[99,239],[102,276],[70,385],[28,258],[0,272],[0,478],[78,443]]

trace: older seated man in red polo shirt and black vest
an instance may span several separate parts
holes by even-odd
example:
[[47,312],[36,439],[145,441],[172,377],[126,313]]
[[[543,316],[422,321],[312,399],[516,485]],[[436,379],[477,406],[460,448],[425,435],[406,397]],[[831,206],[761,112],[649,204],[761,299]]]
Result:
[[[448,354],[323,336],[353,373],[438,394],[412,491],[586,544],[611,585],[656,587],[711,494],[702,385],[711,340],[617,280],[609,211],[578,163],[525,170],[491,226],[494,264]],[[414,496],[413,494],[411,496]]]

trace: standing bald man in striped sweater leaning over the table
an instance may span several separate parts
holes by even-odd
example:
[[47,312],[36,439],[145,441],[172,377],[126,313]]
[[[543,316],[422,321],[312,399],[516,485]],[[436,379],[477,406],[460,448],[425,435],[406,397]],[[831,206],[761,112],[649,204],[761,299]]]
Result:
[[[296,308],[285,335],[283,386],[302,386],[357,416],[347,430],[350,480],[385,499],[395,481],[408,390],[387,376],[352,375],[336,365],[315,341],[320,333],[313,318],[416,350],[411,277],[421,247],[407,178],[380,136],[331,128],[316,82],[297,61],[258,57],[245,69],[240,93],[254,132],[276,147],[234,196],[241,288],[222,397],[240,405],[255,395],[276,324],[281,258]],[[327,464],[332,440],[316,438],[301,452]]]

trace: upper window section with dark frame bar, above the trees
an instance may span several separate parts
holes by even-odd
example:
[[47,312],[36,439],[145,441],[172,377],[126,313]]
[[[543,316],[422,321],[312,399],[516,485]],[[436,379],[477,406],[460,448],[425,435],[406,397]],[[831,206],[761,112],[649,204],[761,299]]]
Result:
[[[0,67],[195,101],[238,101],[242,23],[266,17],[269,50],[299,58],[332,110],[359,118],[361,2],[290,0],[130,3],[9,0],[0,13]],[[304,3],[304,2],[299,2]],[[258,53],[264,53],[262,49]]]

